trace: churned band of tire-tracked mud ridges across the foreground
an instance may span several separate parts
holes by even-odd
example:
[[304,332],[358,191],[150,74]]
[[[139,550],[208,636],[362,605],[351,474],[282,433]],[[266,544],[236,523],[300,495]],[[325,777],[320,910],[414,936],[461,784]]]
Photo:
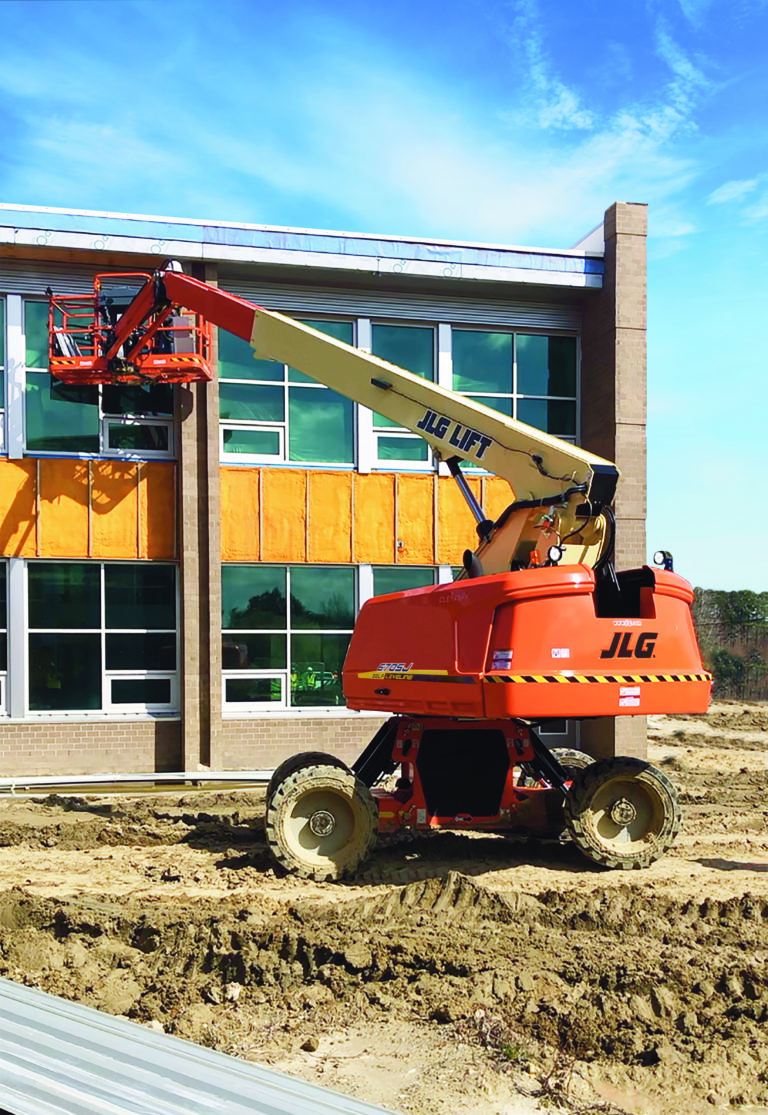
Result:
[[455,872],[341,903],[195,903],[183,917],[19,890],[0,900],[0,975],[182,1036],[210,1040],[214,1008],[252,1030],[298,1010],[308,1035],[489,1010],[531,1048],[650,1092],[719,1090],[738,1064],[750,1103],[768,1103],[766,954],[767,899],[674,902],[629,885],[506,896]]

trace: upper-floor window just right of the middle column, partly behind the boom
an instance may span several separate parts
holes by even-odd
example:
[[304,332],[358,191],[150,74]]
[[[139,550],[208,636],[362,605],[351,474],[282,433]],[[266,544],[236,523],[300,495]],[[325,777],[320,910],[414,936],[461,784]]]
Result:
[[[351,321],[307,321],[351,345]],[[254,360],[251,346],[218,331],[222,454],[253,460],[352,464],[354,405],[295,368]]]

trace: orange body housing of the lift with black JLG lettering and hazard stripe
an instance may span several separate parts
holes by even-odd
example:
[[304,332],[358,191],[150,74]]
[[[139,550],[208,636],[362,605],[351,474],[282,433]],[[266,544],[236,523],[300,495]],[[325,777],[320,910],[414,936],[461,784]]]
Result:
[[689,583],[649,568],[619,582],[606,593],[591,569],[563,565],[376,597],[344,662],[347,705],[495,719],[706,711]]

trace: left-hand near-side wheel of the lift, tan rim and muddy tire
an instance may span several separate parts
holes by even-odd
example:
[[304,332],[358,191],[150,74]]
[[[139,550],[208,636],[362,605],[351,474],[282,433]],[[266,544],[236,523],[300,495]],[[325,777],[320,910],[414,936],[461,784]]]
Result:
[[[332,827],[319,834],[313,820]],[[266,843],[274,859],[302,879],[334,881],[353,874],[376,846],[378,809],[351,770],[302,766],[276,786],[266,806]]]

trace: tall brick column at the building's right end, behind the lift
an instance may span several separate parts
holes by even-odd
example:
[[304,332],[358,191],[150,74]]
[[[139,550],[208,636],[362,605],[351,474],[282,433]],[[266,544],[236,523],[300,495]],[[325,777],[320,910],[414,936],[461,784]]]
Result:
[[[621,469],[616,492],[616,566],[645,563],[645,329],[648,207],[616,202],[605,212],[603,289],[584,299],[582,444]],[[644,717],[586,720],[594,755],[647,754]]]

